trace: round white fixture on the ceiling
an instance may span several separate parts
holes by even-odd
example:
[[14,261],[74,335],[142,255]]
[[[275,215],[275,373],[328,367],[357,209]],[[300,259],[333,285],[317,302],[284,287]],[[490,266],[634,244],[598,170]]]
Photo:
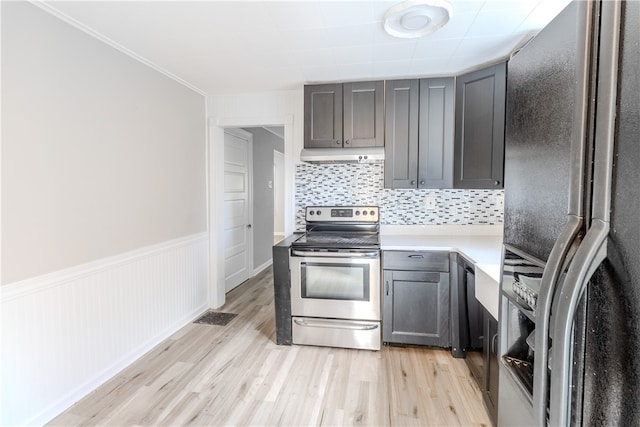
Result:
[[424,37],[442,28],[453,13],[445,0],[408,0],[384,15],[384,30],[393,37]]

